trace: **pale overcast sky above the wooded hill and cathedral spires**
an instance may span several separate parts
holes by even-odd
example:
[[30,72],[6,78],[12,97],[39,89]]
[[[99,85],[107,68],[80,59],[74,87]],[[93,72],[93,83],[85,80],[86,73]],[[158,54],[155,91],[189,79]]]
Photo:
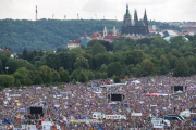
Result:
[[196,22],[196,0],[0,0],[0,20],[35,21],[38,18],[123,20],[126,3],[133,17],[137,10],[143,18],[146,8],[148,20],[161,22]]

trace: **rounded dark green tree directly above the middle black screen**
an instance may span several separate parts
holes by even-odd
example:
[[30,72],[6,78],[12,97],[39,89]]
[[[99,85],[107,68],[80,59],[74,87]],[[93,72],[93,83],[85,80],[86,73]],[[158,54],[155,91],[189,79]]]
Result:
[[108,77],[113,75],[120,76],[122,73],[122,66],[119,62],[110,63],[107,67]]

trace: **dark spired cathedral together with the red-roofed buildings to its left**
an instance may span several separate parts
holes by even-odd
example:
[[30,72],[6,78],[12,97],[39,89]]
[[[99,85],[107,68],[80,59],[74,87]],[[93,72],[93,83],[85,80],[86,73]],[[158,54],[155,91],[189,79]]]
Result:
[[146,10],[144,14],[144,20],[140,21],[138,21],[137,11],[135,10],[134,20],[132,21],[132,16],[128,11],[128,5],[126,5],[126,13],[124,15],[124,22],[121,27],[121,34],[119,34],[115,30],[115,27],[113,27],[113,31],[108,31],[107,27],[105,26],[103,31],[93,32],[90,37],[88,37],[86,32],[84,32],[84,35],[77,40],[70,41],[68,43],[68,48],[72,49],[79,47],[81,44],[87,47],[87,43],[90,40],[105,40],[112,43],[114,39],[119,38],[120,36],[131,37],[132,39],[148,37],[149,30],[148,30],[148,20],[146,15]]

